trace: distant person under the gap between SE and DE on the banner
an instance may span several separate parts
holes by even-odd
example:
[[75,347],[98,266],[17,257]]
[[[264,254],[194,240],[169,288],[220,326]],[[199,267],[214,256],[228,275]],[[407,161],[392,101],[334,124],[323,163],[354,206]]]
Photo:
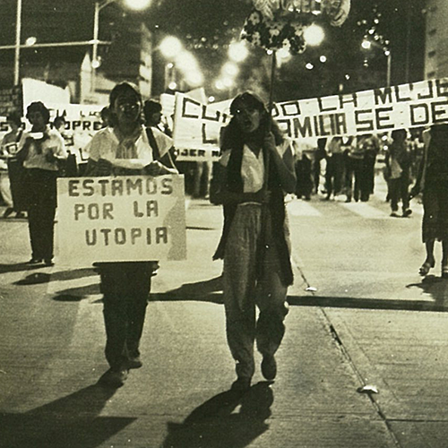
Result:
[[410,156],[406,137],[406,129],[394,129],[392,131],[392,143],[386,154],[386,166],[388,167],[389,190],[391,195],[391,216],[398,217],[399,202],[401,201],[402,216],[409,216],[409,174]]

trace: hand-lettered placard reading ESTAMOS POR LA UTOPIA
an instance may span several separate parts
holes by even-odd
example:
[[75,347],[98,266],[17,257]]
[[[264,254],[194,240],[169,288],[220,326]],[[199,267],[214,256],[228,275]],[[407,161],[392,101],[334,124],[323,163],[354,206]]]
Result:
[[183,176],[57,179],[58,263],[185,260]]

